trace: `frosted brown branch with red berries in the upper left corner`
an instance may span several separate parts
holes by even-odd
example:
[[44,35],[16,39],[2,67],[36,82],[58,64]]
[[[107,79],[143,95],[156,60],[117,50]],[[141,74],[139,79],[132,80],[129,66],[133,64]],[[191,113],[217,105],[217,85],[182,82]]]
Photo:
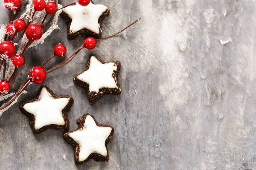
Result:
[[[8,110],[15,102],[17,102],[18,97],[26,92],[25,89],[29,84],[43,83],[48,73],[68,64],[83,48],[87,48],[89,50],[94,49],[99,41],[120,34],[122,31],[140,20],[139,18],[115,34],[99,39],[95,39],[93,37],[86,38],[84,40],[84,44],[81,45],[81,47],[64,62],[46,71],[44,69],[44,65],[46,65],[49,60],[55,56],[64,57],[67,52],[67,48],[64,45],[56,45],[54,48],[54,54],[41,66],[36,66],[30,70],[28,78],[22,82],[17,92],[8,94],[12,85],[15,83],[18,68],[25,64],[26,59],[24,57],[24,52],[26,49],[34,47],[40,43],[44,43],[44,39],[47,38],[54,29],[58,29],[58,15],[61,13],[62,9],[75,5],[76,3],[79,3],[81,6],[87,6],[90,3],[90,0],[78,0],[78,2],[71,3],[64,7],[58,4],[58,0],[55,2],[49,1],[47,3],[45,0],[32,0],[26,6],[26,12],[22,14],[20,18],[15,20],[20,8],[24,5],[24,0],[4,0],[5,7],[10,11],[10,21],[5,27],[4,34],[0,34],[0,59],[2,60],[0,64],[0,71],[3,67],[2,80],[0,81],[0,101],[11,96],[13,97],[0,107],[0,116],[4,111]],[[12,17],[13,13],[15,13],[15,15]],[[52,17],[47,23],[45,23],[48,15],[52,15]],[[44,32],[46,28],[47,31]],[[18,33],[21,33],[20,36],[18,36]],[[17,43],[19,43],[19,48],[17,50],[17,54],[15,54],[15,45],[17,45]]]

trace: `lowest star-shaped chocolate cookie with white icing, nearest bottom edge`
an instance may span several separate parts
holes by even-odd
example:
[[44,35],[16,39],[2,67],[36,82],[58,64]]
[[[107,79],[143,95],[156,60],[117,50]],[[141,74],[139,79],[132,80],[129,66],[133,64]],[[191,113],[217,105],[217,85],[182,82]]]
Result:
[[80,165],[90,159],[108,161],[107,144],[114,128],[100,125],[93,116],[84,114],[79,127],[65,133],[63,139],[74,147],[75,164]]

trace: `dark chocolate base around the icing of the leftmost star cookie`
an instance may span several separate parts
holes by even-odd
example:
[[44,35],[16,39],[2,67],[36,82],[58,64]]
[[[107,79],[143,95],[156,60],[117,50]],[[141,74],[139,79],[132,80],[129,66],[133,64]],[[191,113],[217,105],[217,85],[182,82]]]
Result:
[[[35,101],[39,101],[38,100],[38,97],[40,96],[40,93],[41,93],[41,90],[43,88],[46,88],[47,91],[52,95],[52,97],[54,99],[59,99],[59,98],[69,98],[69,102],[68,104],[66,105],[66,107],[62,110],[62,116],[63,116],[63,119],[65,121],[65,125],[46,125],[44,127],[41,127],[40,129],[35,129],[35,116],[29,112],[27,112],[23,107],[25,104],[27,103],[31,103],[31,102],[35,102]],[[32,99],[32,100],[29,100],[28,102],[25,102],[25,103],[22,103],[20,104],[20,111],[23,115],[27,116],[29,118],[29,125],[33,131],[34,134],[39,134],[39,133],[42,133],[44,132],[45,130],[47,129],[55,129],[55,130],[68,130],[69,129],[69,119],[68,119],[68,115],[67,113],[70,111],[71,109],[71,106],[73,105],[73,98],[71,96],[66,96],[66,95],[57,95],[55,93],[53,93],[46,85],[41,85],[39,91],[38,91],[38,94],[36,96],[36,99]]]

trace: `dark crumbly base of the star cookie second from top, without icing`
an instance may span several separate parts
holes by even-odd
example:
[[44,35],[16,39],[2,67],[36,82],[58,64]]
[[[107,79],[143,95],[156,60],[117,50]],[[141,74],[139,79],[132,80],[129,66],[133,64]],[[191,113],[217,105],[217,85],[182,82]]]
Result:
[[[92,55],[92,56],[94,56],[94,55]],[[91,56],[91,57],[92,57],[92,56]],[[90,58],[91,58],[91,57],[90,57]],[[99,58],[96,57],[96,56],[94,56],[94,57],[95,57],[99,62],[101,62],[102,64],[107,64],[107,63],[109,63],[109,62],[103,62],[101,59],[99,59]],[[87,62],[87,66],[86,66],[85,70],[82,71],[80,74],[84,73],[85,71],[87,71],[87,70],[90,68],[90,58],[89,58],[89,61]],[[113,77],[113,79],[115,80],[116,86],[117,86],[118,88],[100,88],[98,93],[96,93],[96,92],[90,92],[90,91],[89,91],[89,84],[86,83],[86,82],[83,82],[83,81],[81,81],[80,79],[77,78],[80,74],[79,74],[78,76],[74,77],[73,82],[74,82],[76,85],[78,85],[79,87],[81,87],[81,88],[83,88],[83,89],[86,90],[86,94],[87,94],[89,103],[90,103],[91,105],[95,104],[104,94],[108,94],[108,95],[119,95],[119,94],[121,94],[122,90],[121,90],[121,88],[120,88],[120,85],[119,85],[119,82],[118,82],[118,79],[117,79],[118,74],[119,74],[119,70],[120,70],[120,68],[121,68],[121,62],[119,62],[119,61],[113,61],[113,63],[116,64],[117,69],[116,69],[116,71],[113,71],[112,77]]]

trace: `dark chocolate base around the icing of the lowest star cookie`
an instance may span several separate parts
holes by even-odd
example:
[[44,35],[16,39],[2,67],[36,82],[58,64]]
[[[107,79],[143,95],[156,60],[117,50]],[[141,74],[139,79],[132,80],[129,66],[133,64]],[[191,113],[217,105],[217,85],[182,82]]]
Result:
[[[64,139],[68,144],[70,144],[71,146],[74,147],[74,158],[75,158],[75,164],[76,164],[76,165],[81,165],[81,164],[83,164],[84,162],[90,161],[90,159],[94,159],[95,161],[98,161],[98,162],[99,162],[99,161],[108,161],[108,159],[109,159],[109,155],[108,155],[108,154],[107,154],[107,156],[105,157],[105,156],[102,156],[102,155],[97,154],[97,153],[91,153],[90,156],[88,156],[87,159],[85,159],[84,161],[79,161],[79,152],[80,152],[79,144],[76,143],[72,138],[70,138],[69,134],[72,133],[72,132],[74,132],[74,131],[76,131],[76,130],[80,130],[80,129],[82,129],[82,128],[84,127],[84,123],[85,123],[85,119],[86,119],[86,116],[87,116],[87,115],[89,115],[89,114],[84,114],[84,116],[81,118],[81,123],[79,124],[78,128],[76,128],[76,129],[74,129],[74,130],[72,130],[72,131],[70,131],[70,132],[65,133],[64,136],[63,136],[63,139]],[[106,141],[105,141],[105,147],[106,147],[107,153],[108,153],[108,147],[107,147],[107,145],[108,145],[110,139],[113,137],[114,128],[113,128],[112,126],[99,124],[99,123],[95,120],[95,118],[94,118],[92,115],[90,115],[90,116],[93,118],[93,120],[94,120],[94,122],[96,123],[97,126],[101,126],[101,127],[111,127],[111,128],[112,128],[110,135],[108,136],[108,138],[107,138]]]

